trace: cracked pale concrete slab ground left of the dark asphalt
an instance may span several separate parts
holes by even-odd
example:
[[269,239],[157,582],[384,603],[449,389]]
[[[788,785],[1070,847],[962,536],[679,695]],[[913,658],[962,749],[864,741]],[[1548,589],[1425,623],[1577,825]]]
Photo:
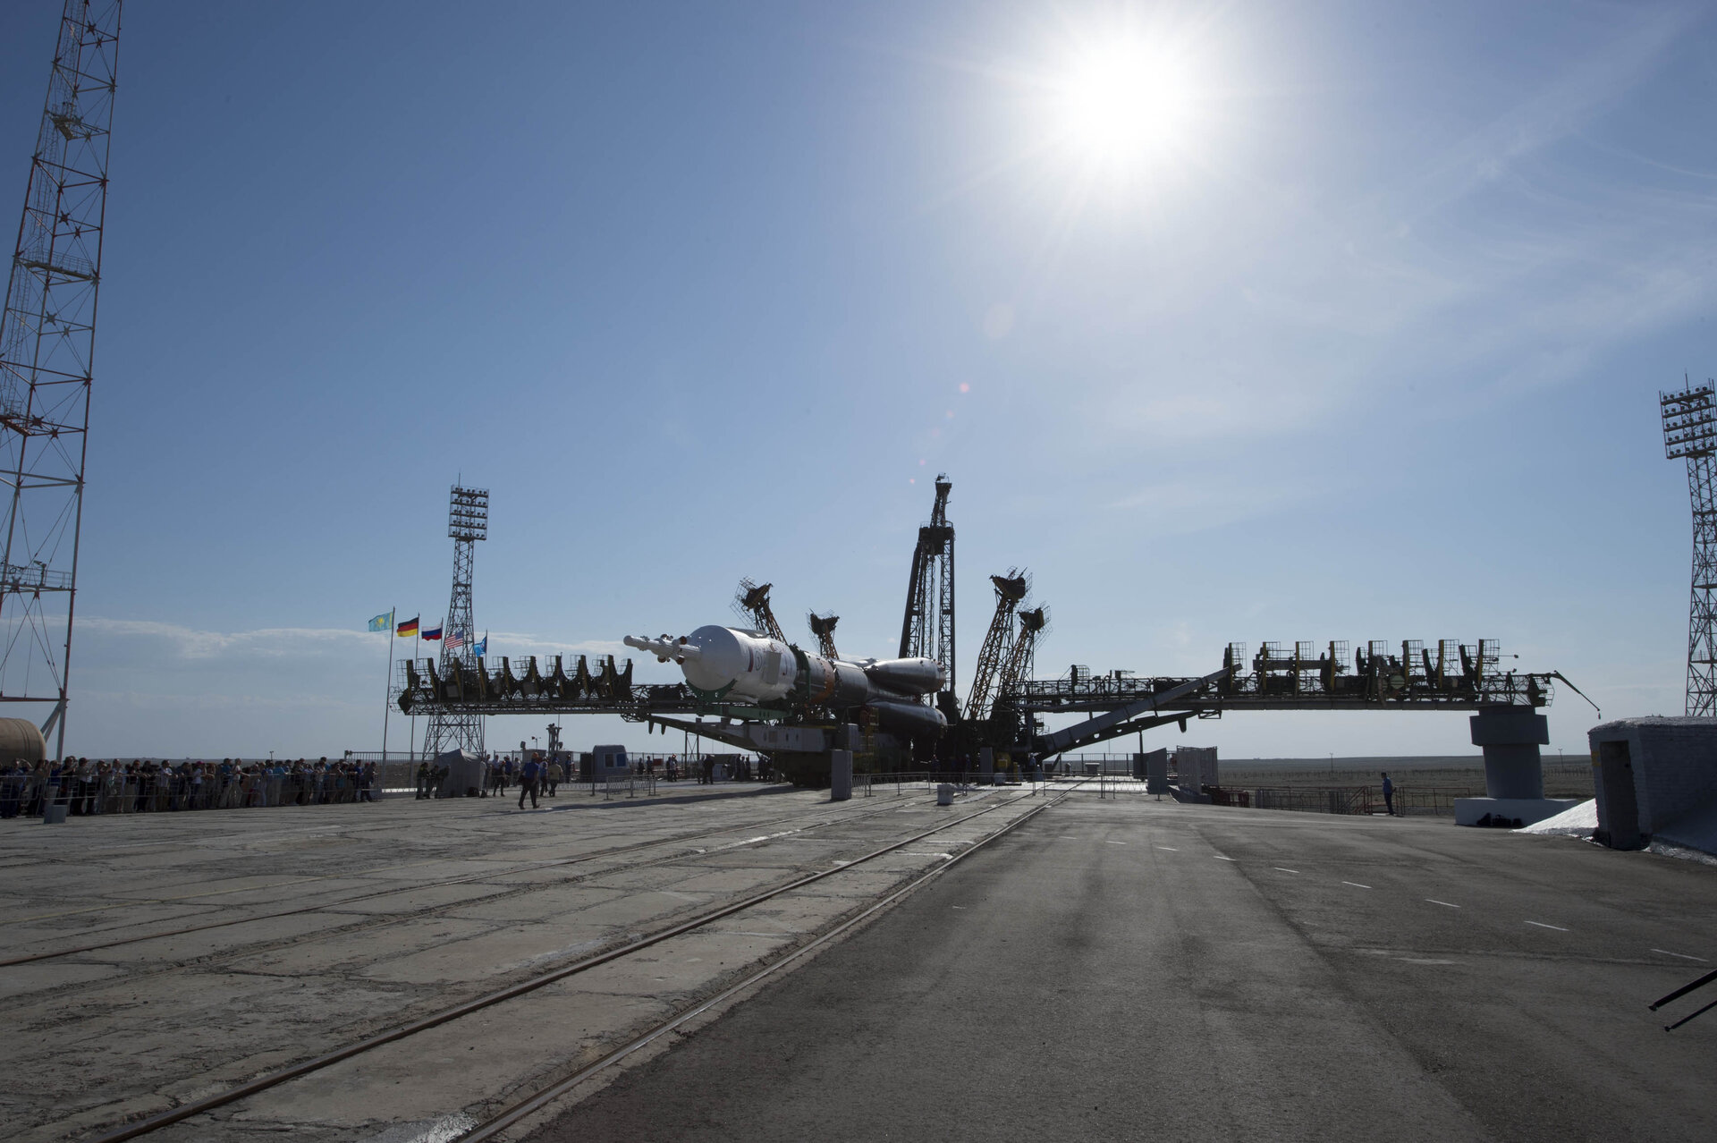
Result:
[[[843,805],[786,788],[663,789],[656,803],[563,791],[555,805],[570,808],[524,813],[405,798],[7,822],[0,959],[242,923],[0,968],[0,1134],[94,1138],[1018,795],[937,810],[922,786]],[[467,1121],[1025,808],[149,1138],[412,1140],[417,1124]],[[264,916],[280,911],[292,915]]]

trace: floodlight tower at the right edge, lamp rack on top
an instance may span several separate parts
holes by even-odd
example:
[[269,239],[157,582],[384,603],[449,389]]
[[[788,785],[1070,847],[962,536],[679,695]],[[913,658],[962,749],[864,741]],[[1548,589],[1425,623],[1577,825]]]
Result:
[[1664,455],[1688,462],[1693,589],[1688,602],[1688,714],[1717,714],[1717,390],[1659,393]]

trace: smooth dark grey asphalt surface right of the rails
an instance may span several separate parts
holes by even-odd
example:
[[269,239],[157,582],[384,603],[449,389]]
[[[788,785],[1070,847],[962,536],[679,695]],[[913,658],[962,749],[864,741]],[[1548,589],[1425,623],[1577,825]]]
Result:
[[[1717,1138],[1717,868],[1080,796],[537,1129],[592,1140]],[[1703,959],[1696,959],[1703,958]]]

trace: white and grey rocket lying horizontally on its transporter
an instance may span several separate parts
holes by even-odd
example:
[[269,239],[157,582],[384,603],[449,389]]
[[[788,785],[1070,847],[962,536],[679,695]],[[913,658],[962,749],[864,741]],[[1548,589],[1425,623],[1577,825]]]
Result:
[[924,702],[948,681],[934,659],[824,659],[767,635],[713,625],[680,638],[627,635],[625,644],[678,662],[685,681],[707,698],[869,707],[883,726],[908,735],[948,726],[943,712]]

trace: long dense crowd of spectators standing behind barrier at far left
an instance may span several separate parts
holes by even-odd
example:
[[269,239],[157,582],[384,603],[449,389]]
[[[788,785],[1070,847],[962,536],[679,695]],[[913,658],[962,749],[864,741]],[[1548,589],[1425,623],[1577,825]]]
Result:
[[50,805],[65,805],[70,815],[93,815],[374,801],[376,788],[374,762],[175,764],[69,757],[0,767],[0,817],[41,817]]

